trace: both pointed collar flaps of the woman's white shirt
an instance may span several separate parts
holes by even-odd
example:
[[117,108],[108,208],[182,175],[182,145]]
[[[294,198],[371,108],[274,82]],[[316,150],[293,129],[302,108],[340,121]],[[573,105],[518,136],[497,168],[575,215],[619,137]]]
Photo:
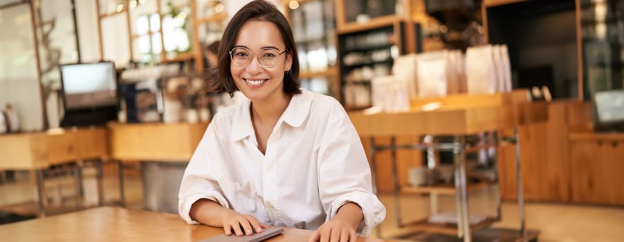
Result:
[[[291,102],[288,103],[286,110],[282,113],[282,118],[277,120],[276,125],[279,125],[283,120],[292,127],[301,127],[308,117],[310,105],[312,103],[309,91],[305,89],[301,89],[301,91],[301,94],[293,95]],[[230,141],[235,142],[247,136],[254,135],[253,125],[251,124],[250,105],[251,100],[245,100],[245,102],[239,106],[235,115],[232,116]]]

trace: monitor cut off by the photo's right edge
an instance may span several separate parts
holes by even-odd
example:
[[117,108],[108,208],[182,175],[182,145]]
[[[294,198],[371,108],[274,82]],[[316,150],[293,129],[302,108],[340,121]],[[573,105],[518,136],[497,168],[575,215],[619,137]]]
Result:
[[594,93],[594,130],[624,131],[624,89]]

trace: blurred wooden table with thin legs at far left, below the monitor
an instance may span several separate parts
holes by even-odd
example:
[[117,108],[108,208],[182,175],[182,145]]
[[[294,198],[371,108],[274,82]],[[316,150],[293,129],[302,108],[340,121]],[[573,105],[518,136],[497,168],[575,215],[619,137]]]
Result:
[[101,160],[108,156],[107,137],[107,131],[103,127],[1,135],[0,170],[35,171],[39,212],[41,216],[45,216],[44,170],[68,162],[96,160],[101,204]]

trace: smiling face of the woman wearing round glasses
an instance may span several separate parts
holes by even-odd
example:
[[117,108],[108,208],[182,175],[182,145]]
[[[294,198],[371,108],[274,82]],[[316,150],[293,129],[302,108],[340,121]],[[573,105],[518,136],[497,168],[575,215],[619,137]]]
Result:
[[[292,56],[284,52],[286,45],[273,23],[247,21],[239,30],[232,49],[236,50],[230,56],[237,58],[239,64],[232,59],[230,71],[236,86],[246,97],[266,101],[284,95],[284,72],[291,69]],[[241,65],[241,59],[248,59],[248,64]]]

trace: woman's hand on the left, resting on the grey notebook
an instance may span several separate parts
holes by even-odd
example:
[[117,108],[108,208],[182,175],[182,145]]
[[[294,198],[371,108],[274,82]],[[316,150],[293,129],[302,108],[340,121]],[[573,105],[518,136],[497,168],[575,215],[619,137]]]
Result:
[[252,235],[254,232],[262,232],[263,227],[268,227],[254,216],[239,214],[234,210],[224,210],[221,214],[221,222],[226,235],[232,234],[232,230],[234,230],[236,236]]

